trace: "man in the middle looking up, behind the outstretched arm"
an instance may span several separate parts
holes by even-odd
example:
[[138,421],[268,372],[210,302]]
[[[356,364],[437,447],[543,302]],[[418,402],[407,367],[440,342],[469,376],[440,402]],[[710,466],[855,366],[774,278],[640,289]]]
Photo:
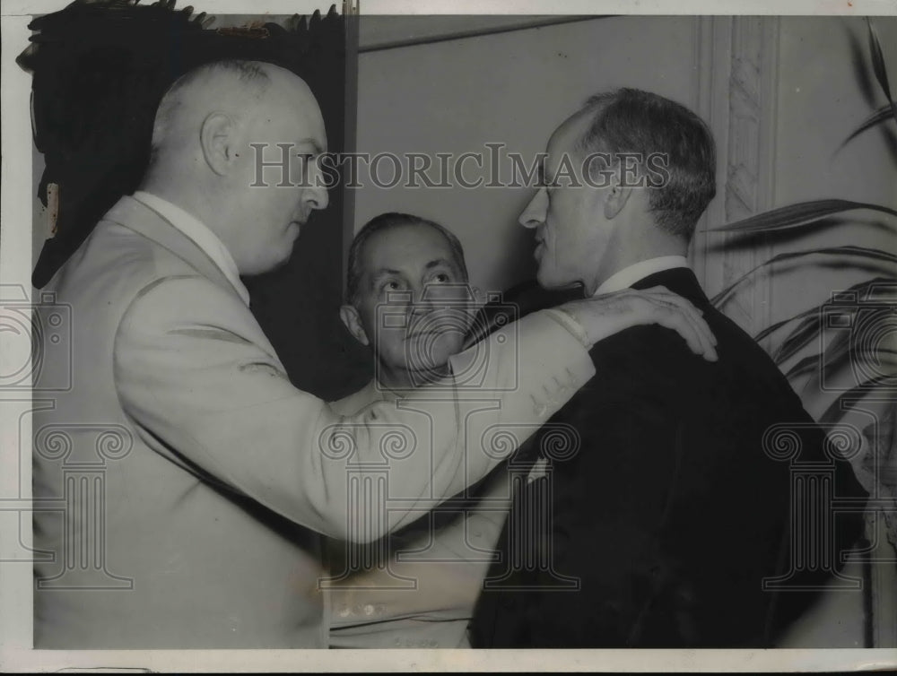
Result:
[[[417,216],[381,214],[353,240],[346,288],[340,317],[370,346],[375,377],[332,403],[335,412],[353,415],[371,403],[397,401],[445,376],[476,309],[454,234]],[[508,498],[502,465],[385,540],[331,542],[331,647],[468,646],[467,622]]]

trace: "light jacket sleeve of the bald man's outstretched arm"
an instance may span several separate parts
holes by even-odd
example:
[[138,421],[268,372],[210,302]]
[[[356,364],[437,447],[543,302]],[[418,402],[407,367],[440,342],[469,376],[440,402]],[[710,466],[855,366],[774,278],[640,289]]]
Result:
[[153,450],[357,542],[481,479],[595,372],[581,342],[536,313],[453,358],[446,382],[339,416],[291,385],[239,299],[197,277],[142,290],[113,360],[122,407]]

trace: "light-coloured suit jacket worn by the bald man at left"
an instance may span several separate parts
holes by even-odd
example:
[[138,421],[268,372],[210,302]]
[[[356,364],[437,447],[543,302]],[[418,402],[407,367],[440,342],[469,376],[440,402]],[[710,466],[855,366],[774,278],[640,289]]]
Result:
[[44,351],[38,382],[72,385],[34,416],[39,648],[327,646],[318,533],[408,522],[594,374],[542,313],[453,360],[476,386],[339,416],[290,384],[212,261],[130,197],[47,290],[71,308],[72,351]]

